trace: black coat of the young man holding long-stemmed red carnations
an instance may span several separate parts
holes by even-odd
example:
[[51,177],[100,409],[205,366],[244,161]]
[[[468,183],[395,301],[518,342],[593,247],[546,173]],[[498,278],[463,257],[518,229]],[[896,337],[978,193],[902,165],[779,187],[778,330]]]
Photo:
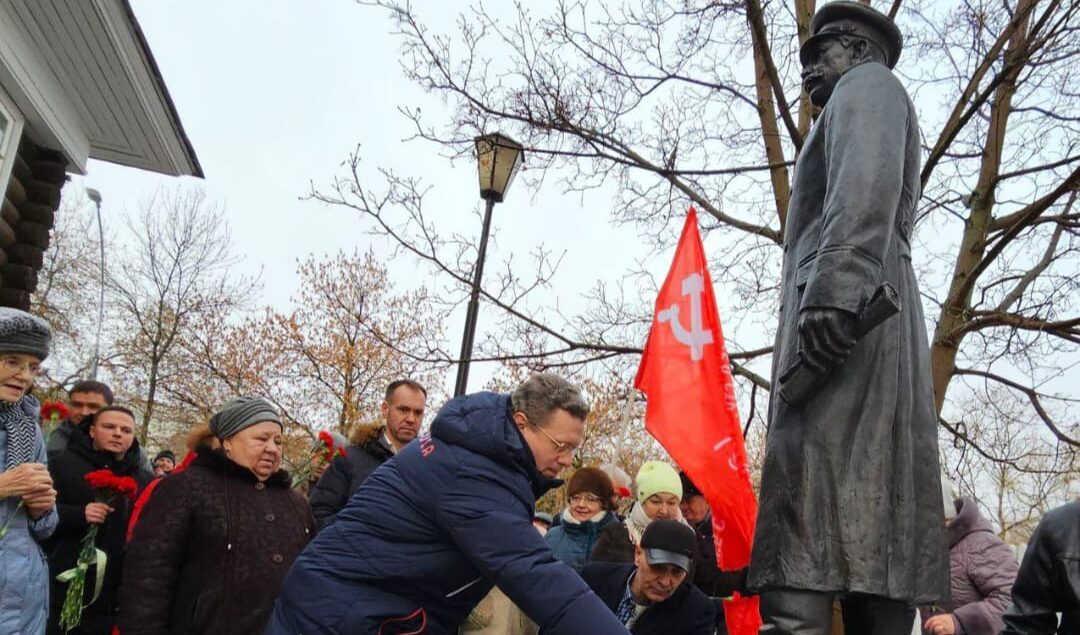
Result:
[[[76,429],[69,437],[67,449],[49,460],[49,473],[56,489],[56,511],[59,523],[43,545],[49,558],[49,595],[52,597],[49,610],[49,633],[59,635],[60,608],[67,594],[67,583],[56,580],[56,576],[76,566],[82,538],[90,524],[86,523],[86,505],[94,502],[94,490],[86,483],[85,475],[95,470],[109,470],[117,476],[131,476],[141,490],[153,474],[139,464],[138,441],[132,444],[124,457],[117,460],[110,452],[94,449],[87,425]],[[84,635],[109,635],[117,618],[117,592],[124,565],[124,536],[131,516],[132,501],[118,497],[108,501],[116,511],[105,518],[97,529],[94,545],[105,552],[105,578],[97,600],[83,610],[82,621],[71,633]],[[86,573],[86,590],[83,603],[93,597],[97,567],[91,566]]]

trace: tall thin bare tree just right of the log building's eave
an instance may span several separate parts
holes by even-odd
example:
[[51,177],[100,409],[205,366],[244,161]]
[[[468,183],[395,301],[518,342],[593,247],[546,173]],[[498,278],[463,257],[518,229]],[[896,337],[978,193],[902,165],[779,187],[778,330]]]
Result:
[[[232,274],[229,229],[220,205],[194,188],[158,191],[127,219],[131,243],[114,254],[109,292],[118,392],[141,410],[146,442],[163,394],[183,369],[178,343],[217,315],[243,305],[255,285]],[[164,422],[164,420],[162,421]]]

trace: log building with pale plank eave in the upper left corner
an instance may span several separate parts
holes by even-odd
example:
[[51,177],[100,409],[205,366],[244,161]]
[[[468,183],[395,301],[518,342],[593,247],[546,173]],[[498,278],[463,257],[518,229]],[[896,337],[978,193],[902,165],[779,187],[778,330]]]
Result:
[[90,158],[202,176],[127,0],[0,2],[0,306],[29,308],[60,188]]

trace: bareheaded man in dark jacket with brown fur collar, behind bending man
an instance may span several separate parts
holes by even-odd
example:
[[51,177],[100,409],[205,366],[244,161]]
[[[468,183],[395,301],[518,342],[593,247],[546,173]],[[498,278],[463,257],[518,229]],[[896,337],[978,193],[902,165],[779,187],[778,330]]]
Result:
[[346,456],[335,458],[311,489],[309,501],[320,529],[345,508],[376,468],[416,438],[427,404],[428,391],[411,379],[399,379],[387,387],[383,423],[354,430]]

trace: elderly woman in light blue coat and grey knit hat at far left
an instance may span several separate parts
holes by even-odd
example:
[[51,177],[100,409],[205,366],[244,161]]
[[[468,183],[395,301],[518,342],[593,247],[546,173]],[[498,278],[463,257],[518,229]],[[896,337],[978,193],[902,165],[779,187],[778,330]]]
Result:
[[40,543],[56,529],[56,491],[27,392],[51,338],[44,321],[0,308],[0,633],[40,635],[49,614]]

